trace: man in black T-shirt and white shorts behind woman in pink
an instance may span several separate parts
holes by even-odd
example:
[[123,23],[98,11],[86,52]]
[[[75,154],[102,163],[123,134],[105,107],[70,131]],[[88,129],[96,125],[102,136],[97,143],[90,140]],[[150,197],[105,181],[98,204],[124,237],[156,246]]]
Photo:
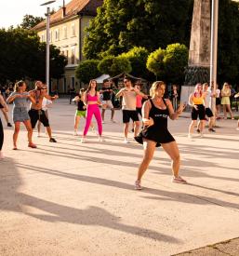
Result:
[[100,89],[100,94],[102,94],[102,123],[104,123],[104,114],[107,108],[111,109],[112,111],[112,118],[111,121],[115,123],[113,120],[114,109],[113,109],[113,102],[112,102],[112,94],[113,88],[110,85],[110,81],[108,79],[103,80],[103,87]]

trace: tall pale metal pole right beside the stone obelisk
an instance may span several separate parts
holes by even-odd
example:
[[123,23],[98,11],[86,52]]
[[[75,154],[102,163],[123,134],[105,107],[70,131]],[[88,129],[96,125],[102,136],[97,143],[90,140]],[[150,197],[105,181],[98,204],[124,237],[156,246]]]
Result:
[[[211,52],[210,52],[210,85],[213,85],[213,94],[216,94],[217,67],[218,67],[218,30],[219,30],[219,0],[212,0],[211,17]],[[216,123],[216,98],[211,97],[210,108]]]

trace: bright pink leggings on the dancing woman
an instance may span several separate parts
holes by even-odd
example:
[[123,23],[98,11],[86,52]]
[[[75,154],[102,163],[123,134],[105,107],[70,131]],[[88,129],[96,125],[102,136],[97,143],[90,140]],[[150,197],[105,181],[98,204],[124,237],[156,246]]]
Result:
[[95,115],[97,119],[97,125],[98,125],[98,131],[99,135],[102,135],[102,118],[100,115],[100,108],[98,104],[92,104],[92,105],[87,105],[87,110],[86,110],[86,126],[84,129],[84,136],[86,136],[88,128],[91,123],[92,116]]

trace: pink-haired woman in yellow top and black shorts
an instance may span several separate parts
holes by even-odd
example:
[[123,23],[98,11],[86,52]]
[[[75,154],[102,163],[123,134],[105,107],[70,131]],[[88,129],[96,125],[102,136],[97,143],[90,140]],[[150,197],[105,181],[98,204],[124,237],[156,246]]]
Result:
[[189,139],[193,138],[193,128],[196,125],[197,117],[199,116],[199,132],[200,136],[203,137],[203,130],[205,128],[205,117],[206,117],[206,112],[205,112],[205,97],[206,94],[203,92],[202,85],[201,84],[196,84],[194,88],[194,92],[191,93],[189,97],[189,105],[192,106],[192,122],[189,126]]

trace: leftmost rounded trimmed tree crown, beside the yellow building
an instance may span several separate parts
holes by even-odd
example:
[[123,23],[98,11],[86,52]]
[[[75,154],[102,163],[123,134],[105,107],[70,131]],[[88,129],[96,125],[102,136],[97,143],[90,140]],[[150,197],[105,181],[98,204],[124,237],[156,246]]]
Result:
[[87,84],[91,79],[100,76],[98,64],[99,61],[96,60],[82,61],[75,70],[75,76],[84,84]]

